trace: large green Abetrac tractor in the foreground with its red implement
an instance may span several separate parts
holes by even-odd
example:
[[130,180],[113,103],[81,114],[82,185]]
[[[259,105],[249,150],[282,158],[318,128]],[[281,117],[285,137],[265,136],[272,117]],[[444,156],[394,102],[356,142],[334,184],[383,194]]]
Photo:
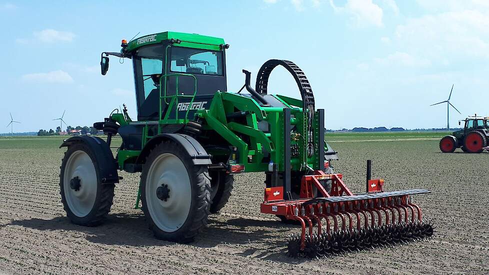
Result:
[[[355,238],[358,245],[368,243],[359,247],[373,247],[381,234],[390,241],[432,234],[431,224],[423,222],[420,208],[409,197],[429,191],[383,192],[383,180],[367,177],[367,194],[354,195],[342,175],[333,172],[329,160],[337,159],[337,154],[324,141],[324,110],[315,109],[312,89],[297,65],[270,59],[259,69],[254,88],[250,72],[243,70],[242,88],[228,92],[228,47],[222,38],[168,31],[122,40],[120,52],[102,52],[103,75],[109,55],[132,60],[137,120],[129,117],[124,105],[93,124],[106,140],[85,135],[61,144],[67,147],[60,172],[61,201],[73,223],[100,224],[121,178],[117,171],[140,172],[136,208],[140,199],[155,237],[189,242],[206,225],[207,216],[228,201],[233,174],[264,172],[261,211],[302,226],[301,235],[289,242],[291,255],[318,245],[319,240],[305,237],[305,228],[312,236],[312,224],[318,224],[321,236],[320,215],[329,216],[323,242],[328,241],[326,236],[341,237],[334,243]],[[268,93],[268,76],[279,65],[291,73],[301,99]],[[116,134],[122,144],[114,156],[110,143]],[[386,209],[392,211],[391,217],[387,212],[380,216]],[[350,231],[344,213],[358,217],[353,227],[349,216]],[[337,224],[337,216],[342,224]],[[329,234],[332,217],[334,235]],[[391,224],[401,219],[402,225]],[[361,236],[351,235],[360,225],[368,228]],[[390,236],[396,230],[396,237],[410,237]],[[309,254],[343,252],[326,244],[321,247],[327,251],[309,249]]]

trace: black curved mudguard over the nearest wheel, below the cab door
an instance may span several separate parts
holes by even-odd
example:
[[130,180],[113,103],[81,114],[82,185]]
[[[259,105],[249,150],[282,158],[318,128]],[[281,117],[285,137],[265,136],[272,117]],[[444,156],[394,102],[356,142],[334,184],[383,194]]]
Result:
[[136,163],[144,163],[146,156],[149,151],[157,144],[165,140],[172,140],[180,144],[192,158],[194,165],[209,165],[212,164],[210,161],[210,155],[207,154],[205,149],[200,145],[200,143],[195,140],[195,138],[181,133],[161,133],[153,136],[148,140],[144,148],[142,148],[141,153],[137,157]]

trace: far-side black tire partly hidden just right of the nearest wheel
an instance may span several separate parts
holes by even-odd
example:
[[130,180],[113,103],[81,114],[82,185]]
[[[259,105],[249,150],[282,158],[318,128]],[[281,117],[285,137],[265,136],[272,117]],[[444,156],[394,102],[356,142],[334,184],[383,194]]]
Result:
[[234,176],[225,171],[213,171],[210,172],[210,176],[210,186],[212,187],[210,212],[217,213],[226,205],[231,196]]

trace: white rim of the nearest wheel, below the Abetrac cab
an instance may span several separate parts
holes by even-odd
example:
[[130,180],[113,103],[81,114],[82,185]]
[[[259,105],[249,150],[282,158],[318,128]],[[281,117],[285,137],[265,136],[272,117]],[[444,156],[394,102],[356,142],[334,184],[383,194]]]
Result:
[[[166,185],[169,197],[159,199],[158,187]],[[187,219],[192,200],[190,177],[183,162],[172,153],[163,153],[149,166],[145,185],[146,206],[152,221],[165,232],[174,232]]]

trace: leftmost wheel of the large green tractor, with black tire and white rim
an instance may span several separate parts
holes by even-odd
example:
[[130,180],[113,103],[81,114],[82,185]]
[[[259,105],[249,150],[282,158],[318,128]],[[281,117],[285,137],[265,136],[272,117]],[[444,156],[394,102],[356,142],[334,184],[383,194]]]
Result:
[[[91,166],[90,162],[93,166]],[[76,165],[77,168],[73,170],[72,165]],[[115,185],[113,183],[101,183],[102,180],[99,172],[100,163],[96,160],[94,148],[91,148],[88,144],[83,142],[78,142],[69,146],[64,153],[60,168],[59,194],[61,195],[63,208],[71,222],[84,226],[96,226],[102,223],[110,212]],[[91,168],[93,168],[93,170]],[[93,172],[95,174],[93,174]],[[70,179],[72,175],[76,176]],[[69,179],[71,181],[75,177],[79,180],[78,190],[71,188],[70,182],[65,182],[65,180]],[[91,191],[87,192],[88,190]],[[87,195],[79,198],[76,196],[76,192],[85,192]],[[93,199],[92,206],[90,207],[91,203],[89,202],[87,203],[88,205],[80,205],[82,199],[85,201],[81,204],[85,204],[87,199]],[[76,204],[79,204],[79,207],[76,207]],[[80,214],[80,212],[84,213]]]

